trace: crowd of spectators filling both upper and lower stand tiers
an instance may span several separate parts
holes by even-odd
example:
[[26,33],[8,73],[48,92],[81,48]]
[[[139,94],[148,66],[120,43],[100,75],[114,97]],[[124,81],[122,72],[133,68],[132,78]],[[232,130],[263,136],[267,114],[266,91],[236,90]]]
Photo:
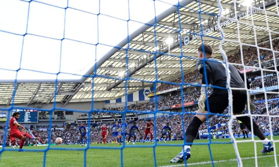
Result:
[[[273,49],[279,51],[279,40],[275,39],[272,41],[273,43]],[[270,48],[269,42],[262,43],[259,45],[260,47],[263,48]],[[244,55],[244,64],[247,66],[256,66],[258,63],[257,59],[257,48],[247,48],[243,49],[243,55]],[[279,57],[279,54],[275,54],[276,58]],[[240,59],[240,52],[235,52],[232,55],[228,56],[228,61],[233,62],[233,63],[241,63]],[[260,50],[260,57],[261,57],[261,62],[268,62],[272,57],[272,52],[267,51],[267,50]],[[238,70],[243,70],[242,67],[238,66]],[[185,83],[196,83],[201,81],[202,75],[198,72],[198,70],[194,70],[193,72],[187,73],[184,75],[184,82]],[[250,86],[251,89],[257,89],[257,88],[262,88],[262,77],[260,75],[252,75],[248,76],[248,79],[250,81]],[[278,78],[277,75],[274,74],[269,74],[269,75],[264,75],[264,86],[265,87],[270,87],[270,86],[276,86],[278,85]],[[174,79],[170,82],[174,83],[181,83],[181,77]],[[171,85],[171,84],[162,84],[157,88],[157,92],[163,91],[163,90],[168,90],[171,88],[176,88],[179,87],[178,85]],[[212,92],[212,89],[209,89],[208,95]],[[192,102],[192,101],[198,101],[200,97],[200,88],[197,89],[192,89],[192,90],[187,90],[183,91],[183,99],[184,103],[187,102]],[[267,114],[267,108],[269,110],[270,115],[278,115],[279,114],[279,99],[278,96],[269,96],[268,97],[269,101],[267,103],[264,100],[264,97],[254,97],[252,102],[255,105],[256,110],[254,112],[251,112],[252,114]],[[158,108],[162,108],[164,106],[171,106],[175,104],[181,104],[182,103],[182,97],[180,92],[171,92],[170,94],[164,95],[164,98],[158,101]],[[146,110],[154,110],[155,109],[155,102],[143,102],[143,103],[137,103],[137,104],[130,104],[127,106],[128,110],[132,111],[146,111]],[[106,107],[103,108],[103,110],[110,110],[110,111],[124,111],[125,107]],[[167,123],[169,123],[169,126],[171,127],[171,139],[173,140],[183,140],[183,124],[181,117],[184,119],[184,125],[185,125],[185,130],[187,129],[190,121],[194,117],[194,112],[192,111],[193,114],[185,114],[181,116],[180,114],[176,115],[165,115],[161,117],[156,118],[156,124],[157,124],[157,130],[156,130],[156,139],[158,140],[160,136],[162,135],[162,128],[165,126]],[[91,115],[110,115],[111,112],[92,112]],[[228,109],[225,110],[224,114],[228,114]],[[79,117],[83,116],[88,116],[88,114],[82,114],[79,115]],[[50,117],[51,118],[51,117]],[[49,117],[41,117],[41,119],[49,119]],[[54,117],[53,117],[54,119]],[[57,117],[56,119],[65,119],[65,117]],[[145,130],[145,125],[146,121],[148,119],[140,119],[137,120],[137,126],[139,127],[139,130],[141,132],[141,136],[138,137],[138,140],[142,140],[144,138],[144,130]],[[218,115],[214,115],[211,117],[208,121],[209,127],[215,126],[217,124],[221,124],[222,126],[212,129],[210,133],[208,133],[208,124],[207,122],[203,123],[200,128],[199,128],[199,133],[197,138],[198,139],[207,139],[210,135],[212,137],[221,135],[221,137],[228,137],[229,131],[228,131],[228,122],[230,120],[230,117],[220,117]],[[264,133],[270,133],[270,124],[269,124],[269,119],[268,117],[253,117],[253,120],[256,122],[256,124],[260,127],[260,129]],[[151,121],[154,121],[151,118]],[[88,138],[90,139],[90,143],[96,142],[96,143],[101,143],[102,142],[102,136],[101,134],[101,126],[102,124],[105,123],[106,126],[108,127],[109,134],[107,136],[107,142],[113,142],[114,139],[112,137],[112,134],[110,133],[110,129],[112,128],[113,124],[115,124],[114,121],[103,121],[101,123],[91,123],[90,125],[85,124],[85,126],[88,129],[88,126],[90,126],[90,136]],[[119,122],[121,123],[121,122]],[[132,121],[126,121],[129,126],[131,126]],[[279,118],[278,117],[272,117],[271,118],[271,128],[273,132],[279,132]],[[64,144],[79,144],[80,143],[80,132],[78,130],[79,124],[75,124],[74,126],[71,125],[71,127],[67,127],[64,125],[53,125],[51,126],[51,134],[50,134],[50,140],[49,139],[49,125],[35,125],[34,129],[31,129],[30,132],[34,137],[37,137],[38,139],[35,141],[32,140],[27,140],[26,144],[31,144],[31,145],[37,145],[37,144],[47,144],[48,142],[50,143],[55,143],[55,140],[57,137],[61,137],[63,139]],[[239,123],[235,119],[232,121],[232,128],[233,128],[233,133],[234,134],[239,134],[241,133],[241,130],[239,128]],[[5,126],[0,126],[0,145],[3,145],[3,138],[4,138],[4,129]],[[154,132],[154,130],[153,130]],[[251,133],[251,132],[250,132]],[[7,136],[9,135],[9,132]],[[155,136],[155,134],[153,134]],[[127,137],[126,137],[127,139]],[[150,139],[150,136],[147,137],[147,139]],[[5,143],[8,145],[10,142],[9,137],[6,139]],[[19,141],[17,141],[18,145]]]

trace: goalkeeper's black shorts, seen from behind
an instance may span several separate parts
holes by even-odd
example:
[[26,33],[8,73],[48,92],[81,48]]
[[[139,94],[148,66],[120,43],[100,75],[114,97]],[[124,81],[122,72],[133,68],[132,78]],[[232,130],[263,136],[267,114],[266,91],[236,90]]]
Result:
[[[232,94],[232,110],[233,113],[237,114],[244,111],[245,103],[247,100],[247,95],[245,94]],[[212,113],[221,114],[228,107],[229,100],[228,94],[218,95],[217,93],[212,93],[208,97],[209,111]],[[208,111],[207,104],[205,101],[205,110]]]

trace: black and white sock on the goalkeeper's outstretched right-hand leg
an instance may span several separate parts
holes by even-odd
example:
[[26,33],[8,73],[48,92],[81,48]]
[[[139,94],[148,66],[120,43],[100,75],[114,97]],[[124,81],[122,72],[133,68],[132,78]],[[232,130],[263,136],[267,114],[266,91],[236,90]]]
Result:
[[[237,117],[237,119],[239,121],[242,121],[244,123],[244,125],[250,130],[251,130],[251,120],[250,117],[248,116],[243,116],[243,117]],[[264,134],[262,133],[262,131],[260,130],[260,128],[257,126],[257,124],[253,121],[253,130],[254,130],[254,134],[259,137],[261,140],[265,140],[266,137],[264,136]],[[268,140],[268,139],[267,139]],[[268,142],[266,141],[262,141],[263,144],[267,144]]]

